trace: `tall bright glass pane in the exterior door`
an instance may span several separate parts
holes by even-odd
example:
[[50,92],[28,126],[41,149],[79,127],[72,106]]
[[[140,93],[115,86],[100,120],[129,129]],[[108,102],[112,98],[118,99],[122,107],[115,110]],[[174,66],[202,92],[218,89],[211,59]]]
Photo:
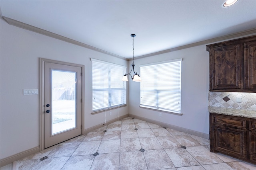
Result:
[[76,127],[76,72],[52,70],[52,135]]

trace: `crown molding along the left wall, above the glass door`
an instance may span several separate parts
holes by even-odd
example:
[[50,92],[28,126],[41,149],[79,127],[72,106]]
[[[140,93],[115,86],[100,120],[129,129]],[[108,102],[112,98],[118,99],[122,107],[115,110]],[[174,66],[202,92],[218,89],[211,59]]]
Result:
[[120,59],[123,59],[123,60],[128,61],[128,59],[126,59],[125,57],[121,57],[121,56],[119,56],[119,55],[115,55],[115,54],[113,54],[113,53],[109,53],[109,52],[107,52],[107,51],[98,49],[98,48],[96,48],[96,47],[92,47],[92,46],[90,46],[90,45],[81,43],[81,42],[79,42],[79,41],[75,41],[75,40],[73,40],[73,39],[64,37],[64,36],[62,36],[62,35],[58,35],[58,34],[56,34],[56,33],[52,33],[52,32],[50,32],[50,31],[46,31],[46,30],[44,30],[44,29],[41,29],[41,28],[38,28],[38,27],[34,27],[34,26],[32,26],[32,25],[28,25],[28,24],[26,24],[26,23],[23,23],[23,22],[20,22],[20,21],[17,21],[17,20],[13,20],[13,19],[8,18],[8,17],[5,17],[5,16],[2,16],[2,18],[3,18],[4,20],[6,20],[7,23],[10,24],[10,25],[14,25],[14,26],[16,26],[16,27],[20,27],[20,28],[23,28],[23,29],[27,29],[27,30],[29,30],[29,31],[33,31],[33,32],[36,32],[36,33],[40,33],[40,34],[46,35],[46,36],[48,36],[48,37],[52,37],[52,38],[55,38],[55,39],[59,39],[59,40],[61,40],[61,41],[65,41],[65,42],[67,42],[67,43],[72,43],[72,44],[74,44],[74,45],[79,45],[79,46],[81,46],[81,47],[84,47],[84,48],[87,48],[87,49],[91,49],[91,50],[93,50],[93,51],[97,51],[97,52],[100,52],[100,53],[104,53],[104,54],[111,55],[111,56],[113,56],[113,57],[117,57],[117,58],[120,58]]

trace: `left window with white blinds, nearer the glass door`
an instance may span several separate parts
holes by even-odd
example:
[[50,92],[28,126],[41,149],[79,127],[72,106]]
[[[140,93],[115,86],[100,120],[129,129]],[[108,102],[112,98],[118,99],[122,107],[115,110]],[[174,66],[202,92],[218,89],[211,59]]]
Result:
[[125,66],[92,60],[92,111],[101,111],[126,104]]

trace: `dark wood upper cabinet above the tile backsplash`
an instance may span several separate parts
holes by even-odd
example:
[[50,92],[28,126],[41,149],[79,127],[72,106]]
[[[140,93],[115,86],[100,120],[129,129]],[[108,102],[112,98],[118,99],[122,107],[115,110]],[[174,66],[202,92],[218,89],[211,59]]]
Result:
[[256,36],[206,45],[210,91],[255,92]]

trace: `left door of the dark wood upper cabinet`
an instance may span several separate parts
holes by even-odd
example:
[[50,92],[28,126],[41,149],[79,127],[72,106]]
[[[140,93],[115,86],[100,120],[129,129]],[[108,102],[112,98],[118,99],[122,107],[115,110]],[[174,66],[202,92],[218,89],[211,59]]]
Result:
[[241,44],[212,49],[212,90],[242,89]]

